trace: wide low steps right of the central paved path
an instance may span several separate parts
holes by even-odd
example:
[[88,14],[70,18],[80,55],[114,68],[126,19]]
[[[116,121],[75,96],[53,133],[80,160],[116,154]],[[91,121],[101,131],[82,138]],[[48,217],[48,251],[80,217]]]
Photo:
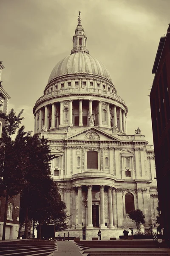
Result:
[[164,243],[153,240],[76,241],[75,244],[85,256],[170,256]]

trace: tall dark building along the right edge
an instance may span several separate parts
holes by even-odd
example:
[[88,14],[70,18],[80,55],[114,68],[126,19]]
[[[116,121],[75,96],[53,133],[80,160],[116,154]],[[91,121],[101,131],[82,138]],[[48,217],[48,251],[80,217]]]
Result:
[[170,25],[160,38],[152,73],[150,92],[156,176],[158,182],[161,226],[170,239]]

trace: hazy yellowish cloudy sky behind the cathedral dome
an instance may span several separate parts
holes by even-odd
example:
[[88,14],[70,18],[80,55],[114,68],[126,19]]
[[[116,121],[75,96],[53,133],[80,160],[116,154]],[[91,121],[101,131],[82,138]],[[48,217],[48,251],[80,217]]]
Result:
[[24,109],[26,131],[34,131],[32,109],[53,67],[68,56],[81,11],[90,55],[111,74],[128,107],[127,133],[138,127],[153,145],[150,86],[161,36],[170,23],[170,0],[1,0],[0,61],[8,110]]

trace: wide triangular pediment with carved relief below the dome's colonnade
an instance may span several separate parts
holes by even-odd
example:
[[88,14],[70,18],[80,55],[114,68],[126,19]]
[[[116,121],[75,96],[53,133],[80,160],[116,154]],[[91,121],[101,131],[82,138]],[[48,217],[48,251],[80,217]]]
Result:
[[70,137],[67,137],[65,140],[89,140],[89,141],[120,141],[118,138],[112,136],[111,134],[102,131],[99,128],[87,128],[83,131],[80,131]]

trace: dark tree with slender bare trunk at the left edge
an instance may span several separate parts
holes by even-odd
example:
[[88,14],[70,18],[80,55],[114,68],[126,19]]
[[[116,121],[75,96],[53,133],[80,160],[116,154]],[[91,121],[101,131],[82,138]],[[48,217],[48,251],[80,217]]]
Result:
[[[21,142],[25,141],[28,133],[24,132],[24,126],[18,129],[23,119],[21,117],[22,113],[23,110],[16,115],[14,109],[11,109],[8,114],[0,111],[0,118],[5,121],[5,126],[2,129],[2,138],[0,138],[0,195],[6,198],[2,240],[5,240],[8,198],[20,193],[23,187],[21,159],[23,145]],[[17,137],[20,138],[20,143],[15,139],[12,140],[12,136],[16,132]]]

